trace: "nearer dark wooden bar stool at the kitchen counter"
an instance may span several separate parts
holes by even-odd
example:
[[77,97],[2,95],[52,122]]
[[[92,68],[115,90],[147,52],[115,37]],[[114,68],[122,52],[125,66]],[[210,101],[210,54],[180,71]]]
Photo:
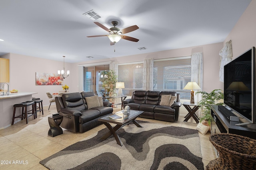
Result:
[[[28,106],[31,106],[32,105],[32,112],[28,113]],[[28,117],[34,115],[34,119],[36,119],[36,114],[35,114],[35,102],[33,101],[28,101],[28,102],[22,102],[22,103],[19,103],[19,104],[14,104],[13,105],[14,109],[13,109],[13,115],[12,115],[12,125],[14,124],[14,119],[15,118],[21,118],[23,120],[26,119],[26,124],[28,124]],[[15,113],[16,113],[16,108],[17,107],[22,107],[22,112],[21,112],[21,115],[18,115],[18,116],[15,116]],[[25,108],[25,111],[24,111],[24,108]],[[31,114],[28,116],[28,114]]]

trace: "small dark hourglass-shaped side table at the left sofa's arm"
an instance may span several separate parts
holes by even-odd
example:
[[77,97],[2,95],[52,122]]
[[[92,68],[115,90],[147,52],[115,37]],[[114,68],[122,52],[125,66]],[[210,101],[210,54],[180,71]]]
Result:
[[51,137],[55,137],[58,135],[61,135],[63,133],[60,123],[63,120],[62,115],[54,116],[54,117],[48,117],[48,122],[50,125],[50,129],[48,131],[48,135]]

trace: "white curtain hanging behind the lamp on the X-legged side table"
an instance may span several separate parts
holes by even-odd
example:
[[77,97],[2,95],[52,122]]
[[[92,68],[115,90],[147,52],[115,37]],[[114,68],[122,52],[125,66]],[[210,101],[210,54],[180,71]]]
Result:
[[[203,54],[192,53],[191,54],[191,82],[196,82],[198,86],[203,90]],[[195,103],[200,102],[201,95],[196,94],[194,101]],[[197,111],[198,116],[202,115],[200,111]]]

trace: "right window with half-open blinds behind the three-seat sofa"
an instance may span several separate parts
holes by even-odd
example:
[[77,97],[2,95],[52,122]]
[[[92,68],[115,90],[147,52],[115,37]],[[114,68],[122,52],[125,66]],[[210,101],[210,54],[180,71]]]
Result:
[[183,90],[191,81],[191,56],[154,60],[153,90],[176,91],[181,99],[190,99],[189,90]]

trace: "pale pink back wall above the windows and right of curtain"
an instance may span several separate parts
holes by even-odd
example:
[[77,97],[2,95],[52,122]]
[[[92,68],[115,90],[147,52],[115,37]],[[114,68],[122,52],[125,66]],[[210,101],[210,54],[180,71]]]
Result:
[[[215,44],[208,44],[208,45],[200,45],[196,47],[187,47],[182,49],[174,49],[174,50],[159,51],[154,53],[145,53],[140,55],[117,57],[117,58],[112,58],[110,60],[112,62],[127,63],[127,62],[143,61],[146,58],[165,59],[165,58],[172,58],[172,57],[189,56],[191,55],[191,53],[202,52],[203,67],[204,67],[203,90],[206,92],[210,92],[214,89],[223,89],[223,83],[219,81],[220,56],[218,55],[222,47],[223,47],[223,43],[215,43]],[[91,61],[91,62],[87,61],[86,63],[77,63],[77,65],[103,62],[103,61],[109,61],[109,59]]]

